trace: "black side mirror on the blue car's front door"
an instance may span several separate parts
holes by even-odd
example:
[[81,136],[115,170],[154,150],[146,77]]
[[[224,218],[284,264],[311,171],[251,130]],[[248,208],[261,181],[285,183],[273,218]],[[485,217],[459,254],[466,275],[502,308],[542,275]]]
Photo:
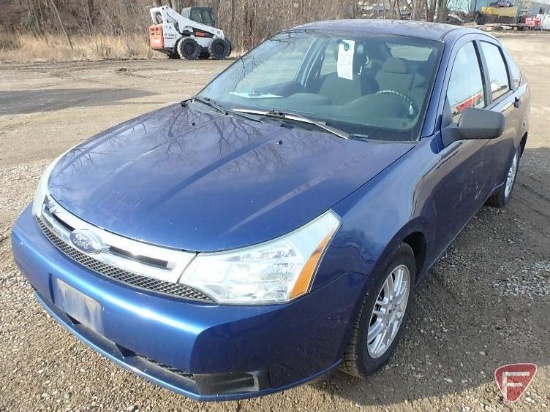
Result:
[[470,107],[462,112],[458,124],[449,124],[441,133],[443,144],[457,140],[496,139],[504,131],[502,113]]

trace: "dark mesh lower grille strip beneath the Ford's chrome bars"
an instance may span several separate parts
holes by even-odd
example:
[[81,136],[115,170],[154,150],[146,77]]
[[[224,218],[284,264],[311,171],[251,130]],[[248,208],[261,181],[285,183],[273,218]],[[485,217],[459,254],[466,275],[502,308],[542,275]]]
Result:
[[93,257],[68,245],[62,239],[57,237],[57,235],[50,230],[50,228],[41,219],[37,218],[36,221],[38,222],[38,226],[42,230],[42,233],[44,233],[44,235],[57,249],[67,255],[70,259],[100,275],[147,291],[202,302],[214,302],[209,296],[189,286],[138,275],[94,259]]

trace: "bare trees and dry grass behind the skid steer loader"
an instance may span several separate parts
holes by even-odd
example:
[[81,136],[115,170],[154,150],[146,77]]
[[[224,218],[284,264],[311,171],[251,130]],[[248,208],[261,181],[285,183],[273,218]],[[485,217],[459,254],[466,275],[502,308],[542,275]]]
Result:
[[[383,17],[445,21],[449,2],[467,0],[21,0],[9,4],[3,30],[17,33],[111,36],[143,33],[152,24],[149,8],[169,5],[213,8],[218,26],[234,48],[247,50],[279,30],[315,20]],[[5,9],[6,10],[6,9]]]

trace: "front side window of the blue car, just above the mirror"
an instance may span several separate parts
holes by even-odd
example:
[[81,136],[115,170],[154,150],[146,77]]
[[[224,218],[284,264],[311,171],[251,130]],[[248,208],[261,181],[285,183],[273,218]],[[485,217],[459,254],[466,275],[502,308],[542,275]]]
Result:
[[447,99],[455,122],[465,109],[485,107],[481,69],[473,43],[462,46],[456,55],[447,89]]

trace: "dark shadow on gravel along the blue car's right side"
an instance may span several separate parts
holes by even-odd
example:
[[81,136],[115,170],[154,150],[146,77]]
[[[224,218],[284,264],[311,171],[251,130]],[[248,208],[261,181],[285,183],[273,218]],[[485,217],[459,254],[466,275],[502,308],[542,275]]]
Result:
[[[311,385],[359,405],[464,395],[486,385],[483,402],[501,408],[497,367],[548,366],[549,159],[550,149],[527,149],[509,205],[484,207],[418,285],[407,331],[385,368],[364,381],[336,372]],[[538,392],[547,383],[536,381],[530,397],[544,400]]]

